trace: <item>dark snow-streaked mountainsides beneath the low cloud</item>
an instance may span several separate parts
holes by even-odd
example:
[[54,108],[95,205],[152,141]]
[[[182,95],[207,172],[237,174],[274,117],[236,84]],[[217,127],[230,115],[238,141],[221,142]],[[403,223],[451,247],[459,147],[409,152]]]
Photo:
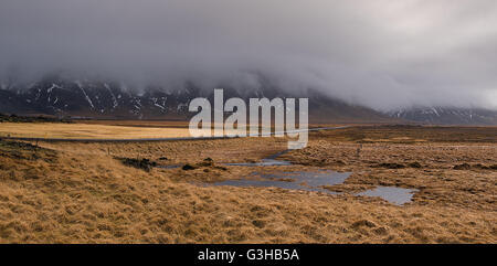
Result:
[[[383,114],[313,89],[288,93],[269,83],[257,91],[223,88],[224,99],[308,97],[310,123],[497,125],[497,111],[485,109],[416,107]],[[28,86],[1,85],[0,113],[64,118],[186,120],[194,115],[188,111],[188,106],[195,97],[208,97],[213,103],[213,91],[202,91],[193,84],[186,84],[173,92],[148,87],[145,93],[136,93],[120,83],[50,77]]]

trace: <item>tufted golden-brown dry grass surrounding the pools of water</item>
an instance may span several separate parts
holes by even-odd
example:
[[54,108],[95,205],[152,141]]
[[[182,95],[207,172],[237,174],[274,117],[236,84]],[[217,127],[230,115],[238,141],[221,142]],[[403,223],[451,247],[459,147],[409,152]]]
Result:
[[[195,163],[207,157],[218,164],[256,161],[285,149],[286,140],[279,138],[59,142],[41,143],[39,149],[2,141],[0,242],[496,243],[497,174],[477,167],[497,161],[494,132],[493,128],[342,129],[313,132],[308,148],[284,156],[300,163],[285,171],[352,171],[346,183],[328,188],[345,192],[340,195],[203,185],[253,171],[281,171],[278,167],[146,172],[114,159],[167,157],[166,164]],[[421,168],[378,167],[414,161]],[[472,167],[454,169],[465,162]],[[374,185],[420,192],[403,206],[352,195]]]

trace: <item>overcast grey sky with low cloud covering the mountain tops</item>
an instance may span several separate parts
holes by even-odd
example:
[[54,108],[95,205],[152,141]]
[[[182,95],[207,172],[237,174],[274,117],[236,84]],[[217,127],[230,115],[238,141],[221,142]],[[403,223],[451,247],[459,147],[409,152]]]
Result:
[[[497,108],[495,0],[0,0],[0,73]],[[20,74],[19,74],[20,73]]]

